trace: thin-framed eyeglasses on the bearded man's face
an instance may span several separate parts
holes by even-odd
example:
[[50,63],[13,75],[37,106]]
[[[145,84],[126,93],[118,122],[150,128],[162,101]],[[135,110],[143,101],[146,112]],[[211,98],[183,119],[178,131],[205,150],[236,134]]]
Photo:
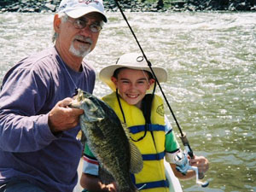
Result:
[[[87,18],[81,18],[78,20],[70,20],[69,18],[67,19],[69,22],[73,23],[73,26],[76,29],[84,29],[84,27],[88,26],[89,20]],[[101,32],[102,30],[102,25],[100,23],[92,23],[89,25],[90,32]]]

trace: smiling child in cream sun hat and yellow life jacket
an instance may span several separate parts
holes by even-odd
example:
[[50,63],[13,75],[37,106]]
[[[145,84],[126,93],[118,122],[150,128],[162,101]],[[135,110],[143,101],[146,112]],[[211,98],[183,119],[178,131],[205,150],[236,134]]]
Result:
[[[166,70],[162,67],[152,68],[158,81],[165,82]],[[154,94],[155,79],[143,55],[122,55],[116,65],[102,68],[99,76],[113,90],[112,94],[104,96],[102,100],[107,102],[121,122],[127,125],[131,140],[143,154],[143,170],[131,176],[137,188],[143,187],[141,191],[145,192],[169,191],[165,175],[165,156],[177,177],[194,177],[195,172],[189,171],[184,176],[176,170],[173,159],[179,152],[179,145],[166,119],[163,101],[160,96]],[[147,94],[150,90],[153,94]],[[197,166],[200,172],[207,172],[206,158],[195,156],[191,164]],[[117,191],[115,183],[105,185],[97,175],[97,160],[85,145],[81,186],[90,192]]]

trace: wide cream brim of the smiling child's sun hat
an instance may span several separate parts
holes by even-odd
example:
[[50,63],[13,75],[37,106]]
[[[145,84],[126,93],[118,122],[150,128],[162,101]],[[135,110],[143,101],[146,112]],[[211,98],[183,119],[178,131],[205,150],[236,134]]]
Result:
[[[101,79],[105,84],[108,84],[110,89],[113,91],[116,90],[116,87],[115,87],[115,84],[113,84],[111,77],[113,76],[113,72],[116,69],[121,68],[121,67],[137,69],[137,70],[144,70],[144,71],[148,71],[148,72],[152,73],[149,67],[134,67],[134,66],[129,66],[129,65],[124,66],[124,65],[118,65],[118,64],[103,67],[99,73],[99,79]],[[154,74],[155,74],[156,78],[158,79],[159,83],[167,81],[166,69],[164,69],[162,67],[151,67],[151,68],[154,71]],[[151,89],[152,89],[152,87],[151,87]]]

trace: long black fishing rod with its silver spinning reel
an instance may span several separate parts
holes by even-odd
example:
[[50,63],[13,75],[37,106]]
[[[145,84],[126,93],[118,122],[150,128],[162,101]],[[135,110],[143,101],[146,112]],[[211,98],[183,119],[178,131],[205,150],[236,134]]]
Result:
[[[191,148],[190,145],[189,145],[189,140],[187,139],[186,134],[183,133],[181,126],[180,126],[179,123],[177,122],[177,118],[176,118],[175,114],[173,113],[172,108],[171,108],[171,105],[169,104],[169,102],[168,102],[168,100],[167,100],[167,98],[166,98],[166,94],[165,94],[164,91],[162,90],[162,87],[161,87],[161,85],[160,85],[160,83],[159,83],[159,81],[158,81],[158,79],[157,79],[157,77],[156,77],[156,75],[155,75],[155,73],[154,73],[154,70],[153,70],[153,68],[152,68],[151,62],[148,61],[148,58],[147,58],[147,56],[145,55],[141,44],[140,44],[139,41],[137,40],[137,36],[135,35],[135,32],[133,32],[133,30],[132,30],[132,28],[131,28],[131,26],[130,26],[130,24],[129,24],[129,22],[128,22],[128,20],[127,20],[125,14],[124,14],[124,12],[123,12],[123,10],[121,9],[121,7],[120,7],[120,5],[119,5],[119,0],[114,0],[114,1],[115,1],[115,3],[117,4],[117,6],[118,6],[118,8],[119,8],[119,11],[120,11],[121,15],[123,16],[123,18],[124,18],[124,20],[125,20],[127,26],[129,27],[129,29],[130,29],[130,31],[131,31],[133,37],[135,38],[135,40],[136,40],[136,42],[137,42],[137,45],[138,45],[139,49],[141,50],[141,52],[142,52],[142,54],[143,54],[143,57],[144,57],[145,60],[147,61],[148,67],[149,67],[151,73],[152,73],[153,76],[154,76],[154,79],[155,79],[155,81],[156,81],[156,84],[157,84],[157,85],[159,86],[159,88],[160,88],[160,92],[161,92],[162,96],[164,97],[164,99],[165,99],[165,101],[166,101],[167,107],[169,108],[170,112],[172,113],[172,117],[173,117],[173,119],[175,120],[175,123],[176,123],[176,125],[177,125],[178,131],[180,132],[180,136],[179,136],[179,137],[181,138],[182,143],[183,143],[183,146],[184,146],[184,148],[186,149],[186,152],[185,152],[185,153],[186,153],[186,154],[189,154],[189,157],[190,157],[191,159],[194,159],[194,158],[195,158],[195,154],[193,153],[193,150],[192,150],[192,148]],[[183,174],[185,174],[189,169],[194,170],[195,173],[196,173],[196,183],[200,184],[202,187],[207,187],[208,182],[202,183],[201,181],[198,180],[198,179],[203,178],[203,177],[204,177],[204,174],[203,174],[203,173],[199,173],[197,167],[195,167],[195,166],[189,166],[189,163],[185,162],[186,160],[184,160],[184,159],[186,159],[186,157],[182,157],[182,156],[178,156],[178,155],[177,155],[177,157],[176,157],[175,159],[176,159],[176,162],[177,162],[177,166],[180,166],[178,171],[180,171],[180,172],[182,172]],[[187,166],[186,166],[185,164],[186,164]],[[184,165],[185,165],[185,166],[184,166]]]

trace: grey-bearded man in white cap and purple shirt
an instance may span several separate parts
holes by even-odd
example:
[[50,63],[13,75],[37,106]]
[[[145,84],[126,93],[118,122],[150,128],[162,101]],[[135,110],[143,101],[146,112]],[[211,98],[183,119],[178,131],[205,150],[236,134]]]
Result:
[[95,71],[84,56],[107,22],[102,0],[62,0],[55,46],[21,60],[0,94],[0,191],[68,192],[78,181],[83,110],[68,108],[76,89],[92,92]]

